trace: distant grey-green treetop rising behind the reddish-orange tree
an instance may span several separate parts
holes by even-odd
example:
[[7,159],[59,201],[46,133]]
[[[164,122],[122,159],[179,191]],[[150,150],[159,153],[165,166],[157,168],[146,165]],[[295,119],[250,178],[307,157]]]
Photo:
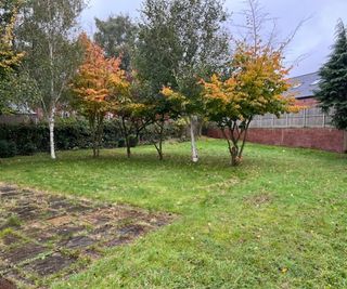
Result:
[[130,71],[131,49],[138,27],[129,16],[110,16],[106,21],[95,18],[98,31],[94,39],[107,57],[120,57],[120,68]]

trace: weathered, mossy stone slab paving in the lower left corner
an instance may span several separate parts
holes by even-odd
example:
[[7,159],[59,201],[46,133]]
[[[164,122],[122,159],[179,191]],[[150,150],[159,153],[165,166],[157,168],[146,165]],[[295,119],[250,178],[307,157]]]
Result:
[[44,288],[172,219],[0,184],[0,289]]

